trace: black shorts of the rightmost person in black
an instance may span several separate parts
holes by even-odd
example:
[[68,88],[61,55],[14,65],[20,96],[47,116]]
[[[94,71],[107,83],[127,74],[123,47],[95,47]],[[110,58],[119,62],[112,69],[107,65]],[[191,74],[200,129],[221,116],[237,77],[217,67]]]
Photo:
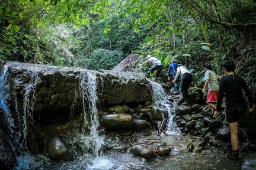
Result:
[[225,114],[226,114],[226,119],[228,123],[233,123],[233,122],[238,122],[239,117],[244,115],[246,112],[246,107],[245,108],[232,108],[232,109],[226,109]]

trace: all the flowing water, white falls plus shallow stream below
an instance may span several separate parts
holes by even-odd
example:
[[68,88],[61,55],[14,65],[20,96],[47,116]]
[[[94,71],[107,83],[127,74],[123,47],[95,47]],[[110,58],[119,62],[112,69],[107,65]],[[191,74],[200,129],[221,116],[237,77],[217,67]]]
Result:
[[[9,135],[12,136],[12,138],[17,138],[17,133],[15,132],[19,132],[19,138],[23,139],[23,142],[20,140],[17,140],[17,143],[14,142],[15,147],[17,147],[18,144],[21,145],[21,143],[23,143],[21,145],[21,148],[23,148],[23,146],[25,146],[24,135],[27,133],[27,118],[30,117],[31,112],[33,112],[34,106],[33,96],[35,86],[33,84],[37,83],[39,80],[34,76],[34,78],[31,79],[31,86],[27,87],[27,92],[24,95],[24,112],[23,116],[20,116],[24,117],[22,119],[23,126],[21,131],[17,131],[17,129],[15,129],[16,125],[12,118],[12,113],[7,104],[10,92],[7,78],[8,70],[7,68],[4,68],[0,77],[0,106],[5,112],[5,122],[7,122],[8,125]],[[24,153],[17,157],[18,164],[14,169],[239,169],[237,165],[228,162],[226,157],[222,156],[223,154],[220,154],[221,151],[219,150],[206,151],[201,154],[185,152],[190,136],[182,135],[177,126],[175,126],[172,121],[172,113],[174,112],[175,104],[169,102],[164,89],[162,89],[158,83],[154,82],[152,82],[153,103],[163,110],[168,110],[167,136],[156,136],[153,131],[148,131],[148,135],[142,133],[135,133],[128,136],[122,133],[114,133],[112,136],[99,135],[98,128],[100,125],[97,106],[97,83],[97,76],[93,72],[86,74],[81,73],[79,91],[82,94],[82,102],[84,104],[82,109],[84,124],[85,126],[88,126],[89,132],[87,132],[88,134],[86,134],[86,132],[79,135],[76,134],[76,136],[79,136],[79,139],[73,139],[81,142],[81,148],[84,146],[90,148],[92,154],[84,153],[81,156],[78,156],[74,161],[56,162],[43,155],[30,155],[29,153]],[[89,103],[88,106],[85,103]],[[172,152],[162,159],[139,158],[126,152],[110,151],[103,154],[103,145],[106,145],[105,142],[108,140],[116,143],[112,146],[114,149],[114,146],[126,146],[127,142],[124,141],[127,141],[129,138],[161,140],[162,142],[167,143],[167,146],[171,147]],[[197,139],[194,140],[197,141]],[[226,162],[228,162],[228,164],[226,164]]]

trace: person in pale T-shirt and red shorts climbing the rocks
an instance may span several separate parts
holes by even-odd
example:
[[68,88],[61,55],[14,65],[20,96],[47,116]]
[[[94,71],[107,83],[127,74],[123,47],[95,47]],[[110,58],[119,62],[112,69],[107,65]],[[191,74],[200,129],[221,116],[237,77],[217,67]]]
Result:
[[207,99],[206,103],[212,108],[212,113],[216,110],[216,103],[217,103],[217,96],[219,94],[219,84],[217,83],[217,76],[214,71],[212,71],[212,66],[210,64],[203,65],[204,73],[204,87],[203,87],[203,94],[206,91],[208,86],[207,92]]

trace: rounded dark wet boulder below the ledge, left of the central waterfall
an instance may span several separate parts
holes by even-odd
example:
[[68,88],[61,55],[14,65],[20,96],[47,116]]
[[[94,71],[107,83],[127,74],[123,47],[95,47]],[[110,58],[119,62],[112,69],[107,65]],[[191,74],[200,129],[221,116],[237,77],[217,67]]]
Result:
[[66,148],[66,144],[57,137],[47,139],[47,151],[55,161],[72,161],[73,156],[71,151]]

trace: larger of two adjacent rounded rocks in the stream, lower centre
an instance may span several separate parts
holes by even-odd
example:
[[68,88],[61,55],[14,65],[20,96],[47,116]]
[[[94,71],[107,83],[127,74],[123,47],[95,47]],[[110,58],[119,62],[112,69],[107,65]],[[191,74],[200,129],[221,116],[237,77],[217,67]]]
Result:
[[145,145],[134,145],[130,149],[130,152],[136,156],[142,156],[143,158],[150,158],[153,156],[153,151],[151,148]]

